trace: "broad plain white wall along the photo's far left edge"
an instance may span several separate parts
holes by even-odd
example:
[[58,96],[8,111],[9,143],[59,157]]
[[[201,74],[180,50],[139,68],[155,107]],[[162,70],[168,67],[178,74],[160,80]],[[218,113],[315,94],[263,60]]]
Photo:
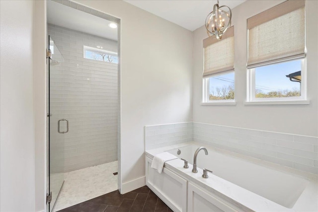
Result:
[[33,1],[0,1],[0,211],[3,212],[35,211],[33,6]]

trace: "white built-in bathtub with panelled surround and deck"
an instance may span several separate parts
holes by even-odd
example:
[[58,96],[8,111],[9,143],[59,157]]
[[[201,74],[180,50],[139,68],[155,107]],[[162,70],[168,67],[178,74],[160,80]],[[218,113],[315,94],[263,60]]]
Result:
[[[209,154],[199,152],[198,173],[192,173],[194,152],[199,146],[193,142],[146,151],[146,184],[173,211],[318,211],[317,175],[206,144],[203,146]],[[163,151],[188,160],[189,168],[175,159],[165,162],[165,174],[156,173],[149,166],[153,156]],[[202,178],[203,168],[213,171],[208,179]],[[169,179],[171,176],[173,179]]]

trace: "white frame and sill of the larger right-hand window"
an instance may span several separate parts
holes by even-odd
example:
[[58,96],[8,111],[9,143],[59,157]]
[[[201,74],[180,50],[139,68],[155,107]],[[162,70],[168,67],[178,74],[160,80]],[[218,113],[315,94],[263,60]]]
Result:
[[[247,69],[247,100],[245,104],[309,104],[310,102],[307,100],[307,69],[306,69],[306,58],[296,59],[301,60],[301,86],[300,92],[301,96],[293,96],[293,97],[275,97],[275,98],[255,98],[255,68]],[[290,60],[291,61],[291,60]],[[273,64],[284,63],[288,61],[280,61]],[[273,64],[267,64],[273,65]],[[260,67],[260,66],[259,66]]]

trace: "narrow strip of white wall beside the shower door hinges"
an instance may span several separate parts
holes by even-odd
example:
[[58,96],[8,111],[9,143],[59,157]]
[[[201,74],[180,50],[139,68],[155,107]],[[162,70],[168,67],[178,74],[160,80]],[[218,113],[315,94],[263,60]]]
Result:
[[34,1],[33,97],[35,126],[35,211],[44,209],[46,197],[46,1]]

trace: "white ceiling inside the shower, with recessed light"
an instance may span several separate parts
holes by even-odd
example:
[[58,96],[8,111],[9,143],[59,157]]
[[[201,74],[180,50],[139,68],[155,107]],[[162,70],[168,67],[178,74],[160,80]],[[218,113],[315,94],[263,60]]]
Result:
[[117,41],[117,28],[108,27],[110,21],[51,0],[47,5],[48,23]]

